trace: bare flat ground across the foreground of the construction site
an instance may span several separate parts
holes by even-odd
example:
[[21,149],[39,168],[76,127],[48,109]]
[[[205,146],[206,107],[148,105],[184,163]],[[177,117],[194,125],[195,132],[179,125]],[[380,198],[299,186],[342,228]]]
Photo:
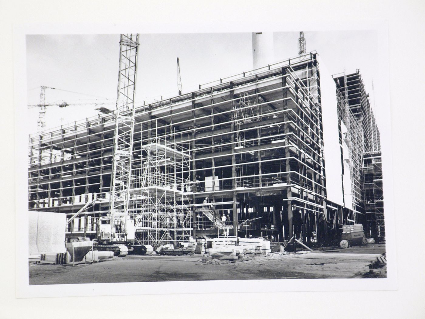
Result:
[[[224,265],[202,263],[200,255],[114,257],[77,267],[30,264],[29,283],[365,278],[371,276],[368,265],[384,252],[385,245],[374,244],[305,254],[272,254]],[[372,276],[386,275],[382,272]]]

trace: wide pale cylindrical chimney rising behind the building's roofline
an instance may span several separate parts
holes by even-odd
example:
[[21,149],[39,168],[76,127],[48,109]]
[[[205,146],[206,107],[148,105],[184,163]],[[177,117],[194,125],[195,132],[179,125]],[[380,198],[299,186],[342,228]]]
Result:
[[273,32],[252,32],[252,67],[261,68],[274,60]]

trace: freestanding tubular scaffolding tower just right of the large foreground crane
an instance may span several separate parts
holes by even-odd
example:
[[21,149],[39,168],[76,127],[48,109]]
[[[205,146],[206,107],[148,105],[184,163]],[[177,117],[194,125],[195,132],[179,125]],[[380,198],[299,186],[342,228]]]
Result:
[[142,145],[141,164],[133,172],[130,208],[139,244],[157,247],[189,240],[189,165],[189,150],[174,138],[153,137]]

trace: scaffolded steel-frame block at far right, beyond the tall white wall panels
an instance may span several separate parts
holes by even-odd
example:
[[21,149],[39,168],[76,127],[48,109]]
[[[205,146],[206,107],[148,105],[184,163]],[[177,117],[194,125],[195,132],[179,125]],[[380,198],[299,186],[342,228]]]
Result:
[[[360,71],[336,74],[338,118],[351,131],[345,139],[350,148],[350,171],[354,211],[365,225],[366,236],[377,241],[385,240],[383,213],[382,163],[380,132],[369,104]],[[341,125],[340,124],[340,125]],[[374,182],[374,180],[378,182]],[[376,189],[376,191],[374,191]],[[356,216],[356,214],[354,214]]]

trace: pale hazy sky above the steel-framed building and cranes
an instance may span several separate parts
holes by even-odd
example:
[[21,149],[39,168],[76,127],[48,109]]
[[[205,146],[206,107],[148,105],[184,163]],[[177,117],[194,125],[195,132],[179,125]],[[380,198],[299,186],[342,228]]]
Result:
[[[297,56],[298,37],[298,32],[274,32],[275,61],[270,63]],[[389,111],[389,105],[380,103],[388,85],[380,57],[388,51],[377,45],[377,31],[305,31],[304,37],[307,51],[317,51],[331,74],[360,69],[379,125],[382,112]],[[177,57],[182,91],[191,92],[198,84],[251,70],[251,33],[141,34],[136,104],[177,95]],[[118,64],[119,34],[27,35],[28,104],[40,103],[41,85],[57,88],[46,89],[46,103],[71,104],[48,106],[46,128],[98,114],[94,108],[99,105],[79,103],[104,102],[114,108]],[[29,133],[37,131],[37,118],[38,109],[28,109]]]

